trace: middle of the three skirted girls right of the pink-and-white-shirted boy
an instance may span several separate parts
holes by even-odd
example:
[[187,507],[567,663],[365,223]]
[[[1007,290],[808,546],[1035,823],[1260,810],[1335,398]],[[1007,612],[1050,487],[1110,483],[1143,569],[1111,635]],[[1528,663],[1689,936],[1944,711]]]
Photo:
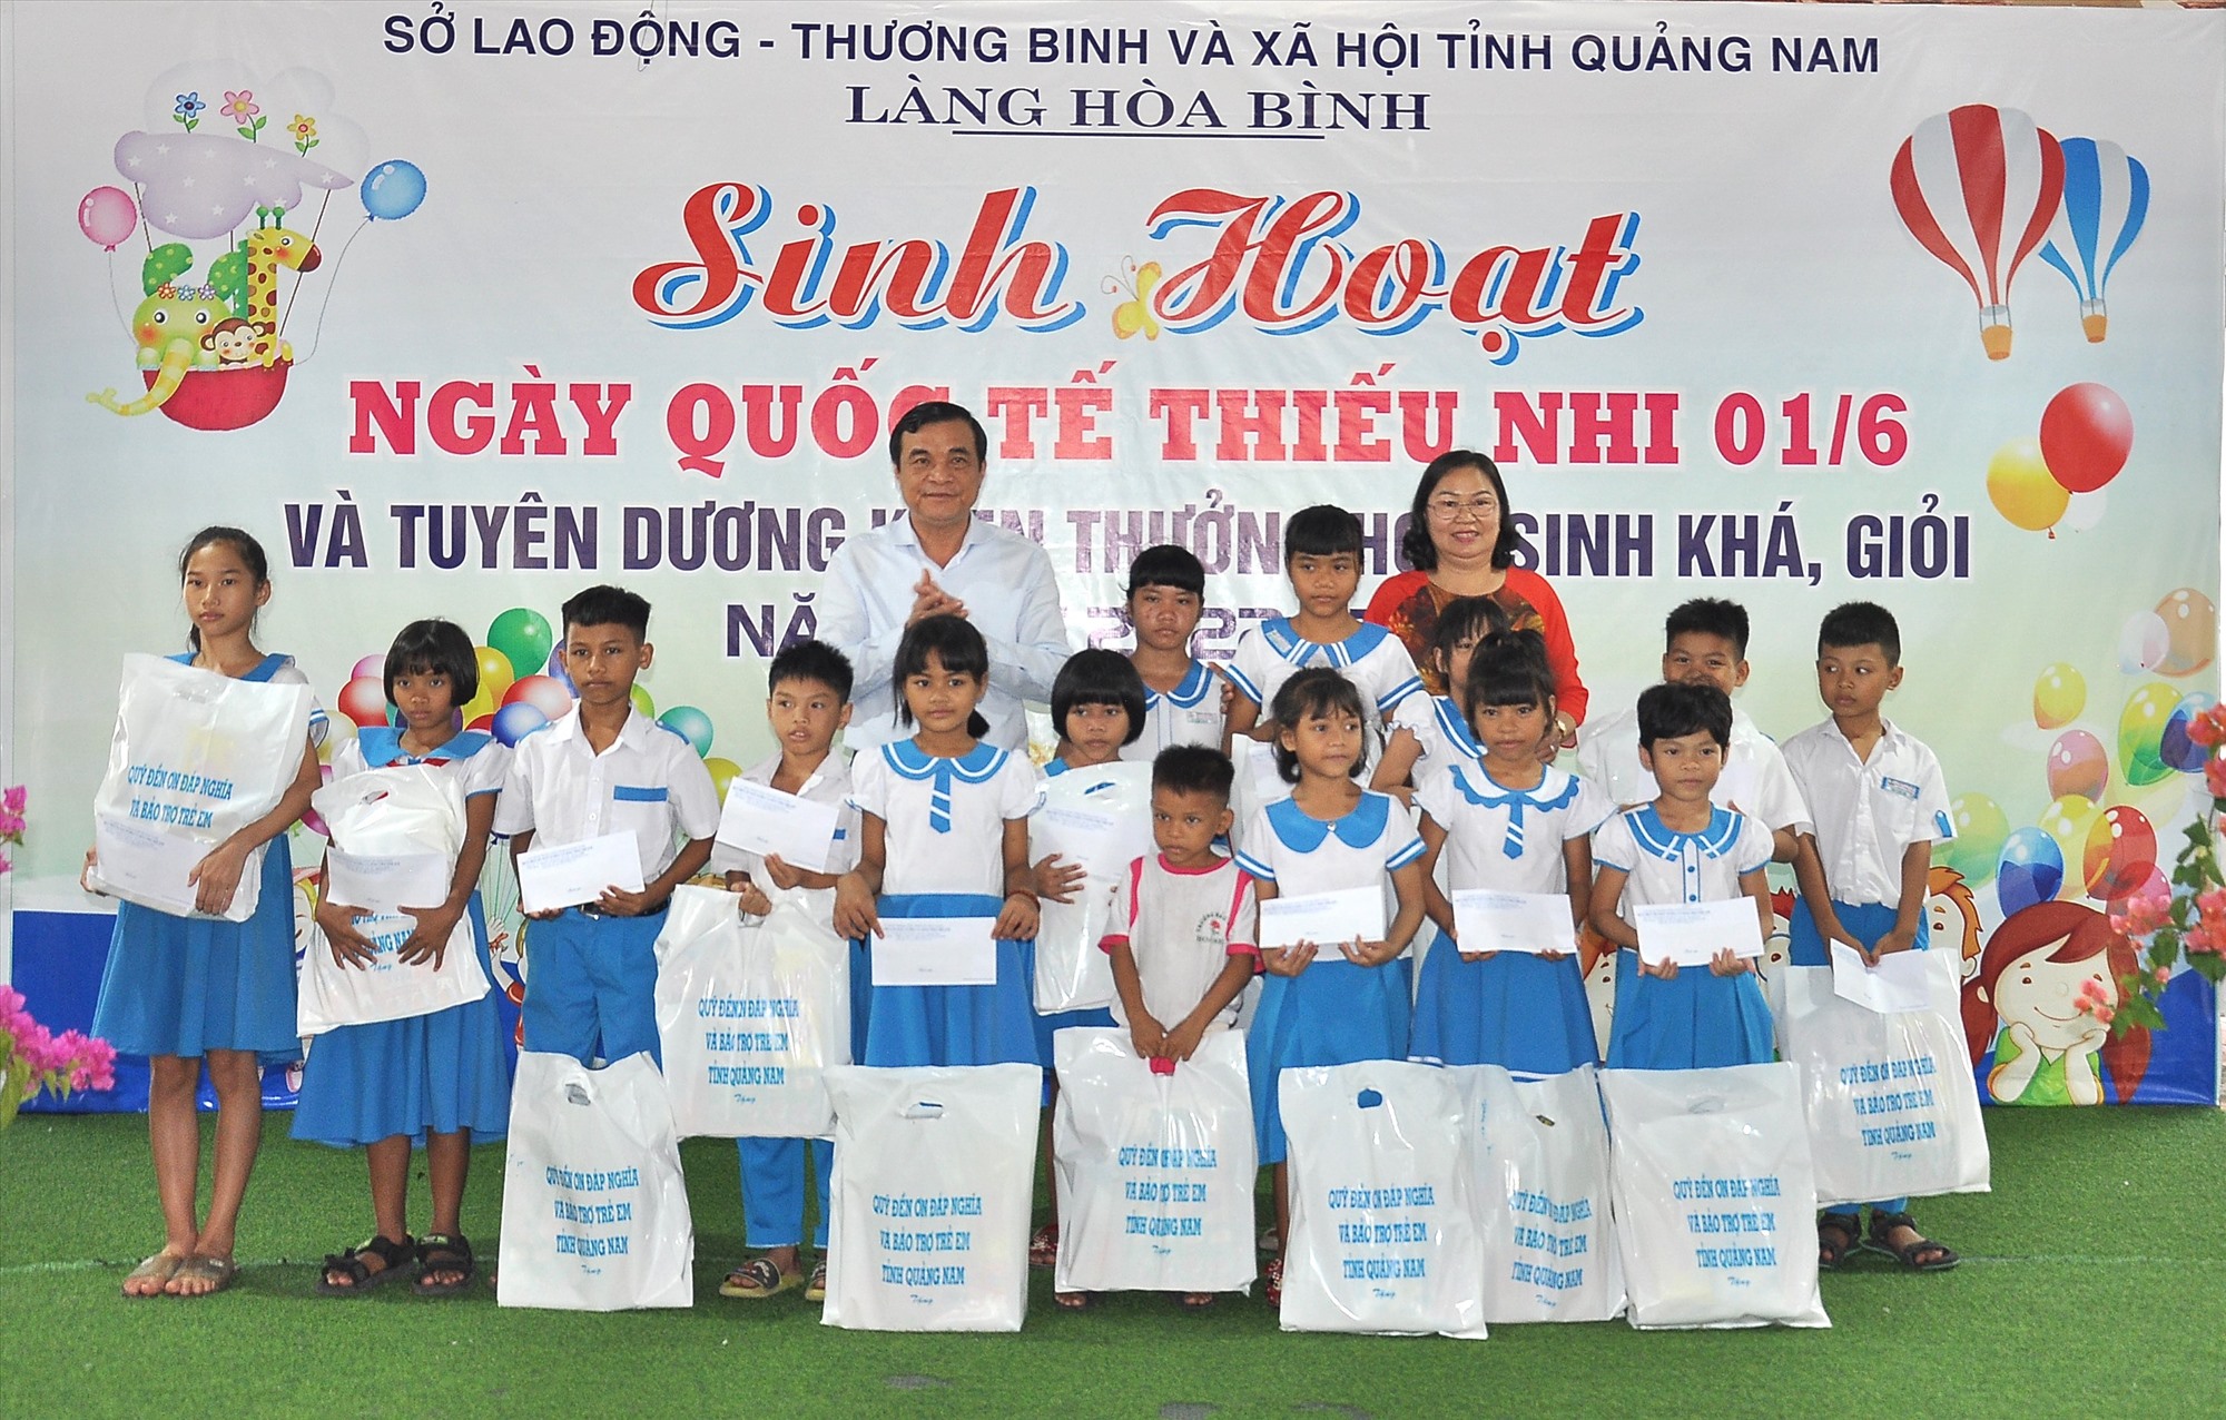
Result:
[[[1554,674],[1538,632],[1485,637],[1469,659],[1467,703],[1483,757],[1438,757],[1416,779],[1416,801],[1427,812],[1429,915],[1440,937],[1422,962],[1409,1053],[1527,1075],[1596,1064],[1576,924],[1592,904],[1592,830],[1614,803],[1583,779],[1538,763],[1554,723]],[[1447,893],[1474,888],[1560,897],[1563,930],[1525,944],[1529,950],[1462,946]]]

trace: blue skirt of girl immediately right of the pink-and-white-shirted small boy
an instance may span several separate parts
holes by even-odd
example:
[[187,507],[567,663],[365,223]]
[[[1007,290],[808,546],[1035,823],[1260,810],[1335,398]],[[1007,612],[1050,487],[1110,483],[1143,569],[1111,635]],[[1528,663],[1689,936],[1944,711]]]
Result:
[[1280,1164],[1287,1144],[1275,1082],[1289,1066],[1405,1059],[1411,1004],[1398,964],[1353,966],[1316,957],[1296,977],[1267,977],[1244,1037],[1260,1162]]

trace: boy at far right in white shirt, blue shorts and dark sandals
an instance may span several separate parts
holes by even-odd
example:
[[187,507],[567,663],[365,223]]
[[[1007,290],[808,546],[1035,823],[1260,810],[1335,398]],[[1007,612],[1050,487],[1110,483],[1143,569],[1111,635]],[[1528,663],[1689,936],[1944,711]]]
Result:
[[[1816,694],[1832,719],[1785,741],[1785,768],[1808,799],[1816,830],[1794,848],[1794,966],[1830,966],[1832,946],[1877,964],[1885,953],[1925,950],[1928,875],[1934,839],[1954,837],[1941,761],[1879,714],[1901,686],[1901,628],[1870,601],[1832,608],[1816,628]],[[1910,1271],[1948,1271],[1961,1258],[1917,1231],[1910,1200],[1859,1204],[1816,1220],[1816,1264],[1834,1269],[1856,1246],[1897,1258]]]

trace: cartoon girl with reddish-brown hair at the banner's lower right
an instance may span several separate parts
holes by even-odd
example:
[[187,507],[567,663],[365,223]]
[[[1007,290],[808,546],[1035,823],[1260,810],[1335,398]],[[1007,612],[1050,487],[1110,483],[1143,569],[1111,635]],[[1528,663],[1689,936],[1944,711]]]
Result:
[[1997,1104],[2101,1104],[2101,1073],[2119,1102],[2148,1073],[2148,1028],[2112,1039],[2081,1010],[2081,990],[2117,1006],[2117,977],[2137,968],[2110,919],[2075,901],[2039,901],[1994,928],[1963,993],[1972,1066],[1994,1046],[1986,1091]]

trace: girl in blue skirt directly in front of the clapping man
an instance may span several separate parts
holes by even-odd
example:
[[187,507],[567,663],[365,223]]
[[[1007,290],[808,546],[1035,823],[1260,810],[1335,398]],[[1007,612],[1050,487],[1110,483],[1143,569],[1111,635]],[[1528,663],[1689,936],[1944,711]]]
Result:
[[982,743],[988,645],[959,617],[922,617],[897,643],[897,719],[910,739],[850,761],[857,868],[835,886],[835,930],[884,917],[995,917],[995,984],[875,986],[864,1064],[1042,1064],[1035,1055],[1035,870],[1026,757]]

